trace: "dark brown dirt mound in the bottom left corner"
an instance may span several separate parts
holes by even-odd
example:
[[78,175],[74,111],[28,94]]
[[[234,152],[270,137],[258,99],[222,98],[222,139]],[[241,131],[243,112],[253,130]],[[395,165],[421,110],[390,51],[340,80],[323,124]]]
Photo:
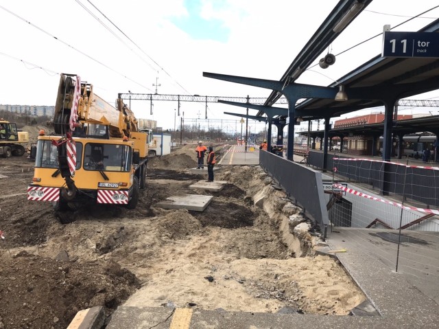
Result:
[[1,317],[5,328],[67,328],[78,310],[114,310],[137,288],[135,275],[115,263],[78,264],[25,251],[14,258],[3,254]]

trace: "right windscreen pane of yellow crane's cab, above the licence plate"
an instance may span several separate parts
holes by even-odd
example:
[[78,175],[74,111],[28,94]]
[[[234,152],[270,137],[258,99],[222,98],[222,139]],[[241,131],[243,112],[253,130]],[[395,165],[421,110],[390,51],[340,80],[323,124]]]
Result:
[[84,169],[128,172],[131,148],[126,145],[88,143],[85,146]]

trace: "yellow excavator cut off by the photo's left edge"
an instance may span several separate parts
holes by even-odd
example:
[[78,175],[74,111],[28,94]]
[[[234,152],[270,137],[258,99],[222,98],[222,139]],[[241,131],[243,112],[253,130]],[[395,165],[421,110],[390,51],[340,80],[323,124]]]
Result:
[[21,157],[25,154],[23,144],[29,143],[29,133],[19,131],[16,124],[0,119],[0,156],[8,158],[11,155]]

